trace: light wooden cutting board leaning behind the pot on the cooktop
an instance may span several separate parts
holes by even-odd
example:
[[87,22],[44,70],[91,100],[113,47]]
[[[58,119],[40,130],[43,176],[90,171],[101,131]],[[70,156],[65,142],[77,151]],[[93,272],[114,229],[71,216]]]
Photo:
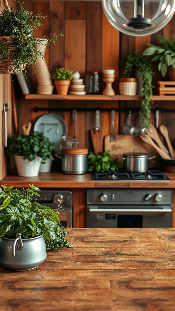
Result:
[[[119,167],[121,168],[123,167],[123,159],[119,159],[117,156],[123,156],[126,152],[133,152],[135,148],[139,148],[141,152],[149,153],[150,156],[156,156],[156,158],[149,161],[149,166],[160,167],[160,163],[157,159],[158,152],[154,147],[143,142],[139,136],[116,135],[116,142],[110,142],[110,135],[104,138],[105,151],[110,150],[111,157],[118,160]],[[139,152],[139,150],[135,151]]]

